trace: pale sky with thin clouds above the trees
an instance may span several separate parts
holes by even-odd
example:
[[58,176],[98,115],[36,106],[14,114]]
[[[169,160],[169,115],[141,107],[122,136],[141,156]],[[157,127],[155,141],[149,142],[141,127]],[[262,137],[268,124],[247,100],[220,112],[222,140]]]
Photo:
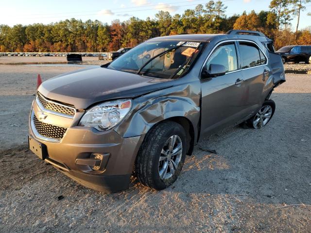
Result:
[[[216,1],[216,0],[215,0]],[[208,0],[3,0],[0,8],[0,24],[33,24],[57,22],[76,18],[86,21],[98,19],[108,24],[113,19],[127,20],[130,17],[154,18],[159,10],[169,11],[171,15],[182,15],[186,9],[194,9],[197,4]],[[226,15],[259,12],[268,10],[270,0],[223,0],[227,6]],[[311,3],[300,17],[299,29],[311,26]],[[296,25],[292,20],[292,28]]]

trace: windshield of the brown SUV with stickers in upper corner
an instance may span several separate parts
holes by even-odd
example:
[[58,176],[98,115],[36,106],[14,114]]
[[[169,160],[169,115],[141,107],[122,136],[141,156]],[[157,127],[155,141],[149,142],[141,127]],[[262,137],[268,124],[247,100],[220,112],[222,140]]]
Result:
[[[157,56],[176,46],[180,47]],[[202,43],[200,42],[146,41],[111,62],[106,68],[137,73],[141,67],[155,57],[140,70],[139,74],[156,78],[172,78],[173,76],[181,76],[189,70],[201,49]]]

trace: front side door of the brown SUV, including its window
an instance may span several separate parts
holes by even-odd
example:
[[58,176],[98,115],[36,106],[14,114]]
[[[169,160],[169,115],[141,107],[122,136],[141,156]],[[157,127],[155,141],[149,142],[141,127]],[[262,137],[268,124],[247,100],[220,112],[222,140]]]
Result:
[[242,72],[238,66],[235,41],[222,42],[216,46],[204,67],[210,64],[223,65],[227,72],[223,76],[201,79],[202,135],[212,133],[241,119],[243,110]]

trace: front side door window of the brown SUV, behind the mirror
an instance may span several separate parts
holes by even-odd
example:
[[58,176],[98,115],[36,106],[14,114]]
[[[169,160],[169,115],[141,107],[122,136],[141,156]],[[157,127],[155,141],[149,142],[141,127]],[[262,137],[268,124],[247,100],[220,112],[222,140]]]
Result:
[[226,72],[237,70],[238,59],[234,42],[218,46],[205,64],[207,70],[210,64],[222,65]]

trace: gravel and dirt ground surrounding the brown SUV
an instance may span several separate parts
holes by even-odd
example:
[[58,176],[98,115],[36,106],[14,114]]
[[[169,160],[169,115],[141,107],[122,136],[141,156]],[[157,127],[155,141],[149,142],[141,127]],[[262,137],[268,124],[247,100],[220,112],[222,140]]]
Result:
[[311,232],[311,75],[286,75],[266,127],[202,140],[173,186],[103,194],[27,149],[36,75],[78,68],[0,65],[0,232]]

